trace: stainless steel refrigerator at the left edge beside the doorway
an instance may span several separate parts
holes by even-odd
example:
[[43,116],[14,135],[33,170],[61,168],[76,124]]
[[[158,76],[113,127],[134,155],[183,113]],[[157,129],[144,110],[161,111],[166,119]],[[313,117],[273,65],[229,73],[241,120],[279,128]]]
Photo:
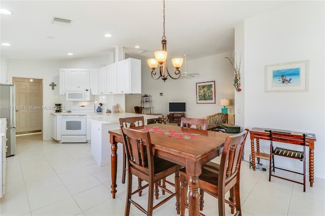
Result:
[[7,118],[6,157],[16,154],[15,85],[0,84],[0,118]]

